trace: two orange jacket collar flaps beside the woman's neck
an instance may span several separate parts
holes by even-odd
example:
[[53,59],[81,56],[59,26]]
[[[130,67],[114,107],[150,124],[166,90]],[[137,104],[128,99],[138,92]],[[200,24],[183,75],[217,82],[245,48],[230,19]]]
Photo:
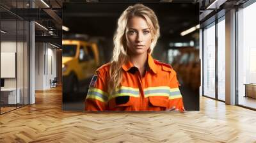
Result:
[[[125,70],[126,72],[129,71],[132,67],[134,67],[134,65],[131,63],[131,61],[127,61],[122,65],[123,70]],[[148,54],[147,58],[147,67],[152,70],[152,72],[157,73],[156,63],[154,62],[154,59],[150,54]]]

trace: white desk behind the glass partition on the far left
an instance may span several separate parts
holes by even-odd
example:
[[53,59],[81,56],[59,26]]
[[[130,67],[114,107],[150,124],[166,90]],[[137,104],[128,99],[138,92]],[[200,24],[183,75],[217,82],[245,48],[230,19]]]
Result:
[[16,98],[16,88],[1,89],[1,102],[4,104],[20,103],[20,89],[17,88],[18,94]]

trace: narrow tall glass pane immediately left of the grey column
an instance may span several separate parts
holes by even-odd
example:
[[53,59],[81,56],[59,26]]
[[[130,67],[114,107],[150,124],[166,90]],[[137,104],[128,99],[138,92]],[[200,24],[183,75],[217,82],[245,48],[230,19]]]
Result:
[[218,99],[225,101],[225,19],[218,23]]

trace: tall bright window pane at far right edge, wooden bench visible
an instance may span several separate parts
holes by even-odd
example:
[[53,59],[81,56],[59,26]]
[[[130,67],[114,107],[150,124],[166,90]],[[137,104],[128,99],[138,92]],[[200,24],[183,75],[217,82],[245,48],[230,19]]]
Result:
[[256,109],[256,3],[237,12],[238,104]]

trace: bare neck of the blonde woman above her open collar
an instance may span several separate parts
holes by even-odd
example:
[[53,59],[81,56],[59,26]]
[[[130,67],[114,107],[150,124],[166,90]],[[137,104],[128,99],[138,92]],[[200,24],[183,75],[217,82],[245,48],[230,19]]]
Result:
[[143,76],[146,72],[146,64],[147,64],[147,53],[140,55],[132,55],[130,56],[131,63],[136,66],[141,76]]

